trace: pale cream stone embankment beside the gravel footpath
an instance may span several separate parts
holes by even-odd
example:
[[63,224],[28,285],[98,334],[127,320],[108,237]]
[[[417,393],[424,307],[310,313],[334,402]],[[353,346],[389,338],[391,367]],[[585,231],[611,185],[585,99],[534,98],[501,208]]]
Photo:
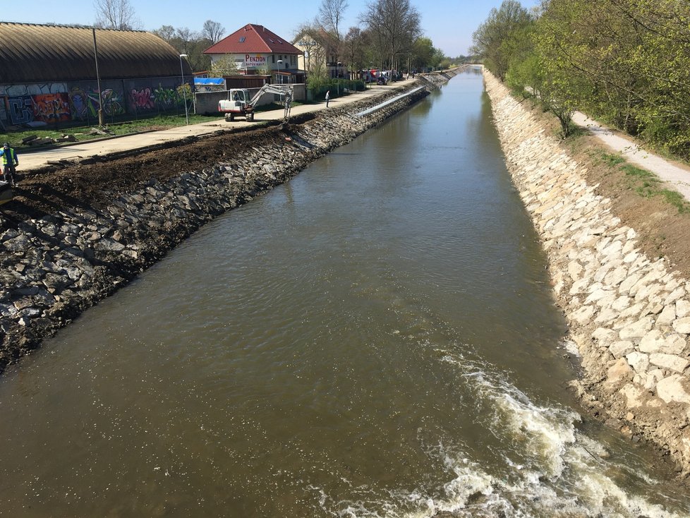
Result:
[[690,282],[641,253],[636,231],[583,167],[490,73],[506,162],[549,257],[553,290],[583,364],[579,396],[690,474]]

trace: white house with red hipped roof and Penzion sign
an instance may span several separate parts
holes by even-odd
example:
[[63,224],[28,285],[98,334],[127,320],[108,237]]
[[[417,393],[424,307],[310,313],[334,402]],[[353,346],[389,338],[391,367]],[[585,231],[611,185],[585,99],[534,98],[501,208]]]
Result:
[[[204,51],[225,76],[272,76],[272,83],[304,83],[300,49],[263,25],[250,23]],[[223,63],[225,61],[225,63]]]

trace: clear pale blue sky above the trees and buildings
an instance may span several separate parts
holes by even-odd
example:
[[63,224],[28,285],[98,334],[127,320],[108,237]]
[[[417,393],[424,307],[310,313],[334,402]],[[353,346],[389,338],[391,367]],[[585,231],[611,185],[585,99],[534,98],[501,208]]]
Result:
[[[258,23],[288,40],[292,39],[298,25],[313,20],[320,3],[320,0],[130,0],[145,30],[172,25],[200,31],[206,20],[214,20],[224,26],[228,35],[247,23]],[[361,25],[358,18],[365,11],[368,0],[348,0],[348,3],[341,25],[343,32]],[[521,1],[526,8],[538,3],[538,0]],[[447,56],[458,56],[467,54],[472,32],[487,18],[492,7],[500,6],[501,0],[411,0],[411,4],[420,12],[425,36],[431,38],[434,47],[442,49]],[[32,0],[29,6],[2,12],[3,21],[23,23],[90,25],[95,18],[93,0]]]

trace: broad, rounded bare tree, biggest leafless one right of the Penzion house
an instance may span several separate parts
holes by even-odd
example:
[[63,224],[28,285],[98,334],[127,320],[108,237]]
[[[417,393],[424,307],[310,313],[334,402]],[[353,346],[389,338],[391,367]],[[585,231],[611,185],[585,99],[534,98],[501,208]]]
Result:
[[409,0],[374,0],[361,16],[380,50],[382,67],[399,68],[397,59],[407,54],[421,34],[419,12]]

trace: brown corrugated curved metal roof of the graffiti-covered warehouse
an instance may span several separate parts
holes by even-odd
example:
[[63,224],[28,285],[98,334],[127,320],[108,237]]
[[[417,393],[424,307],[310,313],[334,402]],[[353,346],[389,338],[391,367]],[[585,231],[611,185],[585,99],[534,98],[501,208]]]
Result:
[[[96,29],[96,43],[102,80],[181,73],[178,52],[151,32]],[[185,59],[183,68],[192,74]],[[0,83],[95,78],[91,28],[0,22]]]

